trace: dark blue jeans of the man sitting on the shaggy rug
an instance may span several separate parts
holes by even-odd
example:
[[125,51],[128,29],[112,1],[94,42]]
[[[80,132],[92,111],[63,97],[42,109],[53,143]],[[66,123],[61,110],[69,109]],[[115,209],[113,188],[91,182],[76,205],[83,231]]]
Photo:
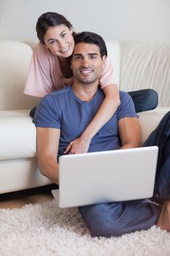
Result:
[[[170,111],[162,118],[144,146],[158,146],[158,165],[152,200],[170,199]],[[101,203],[79,208],[92,236],[121,236],[147,230],[157,221],[161,206],[148,200]]]

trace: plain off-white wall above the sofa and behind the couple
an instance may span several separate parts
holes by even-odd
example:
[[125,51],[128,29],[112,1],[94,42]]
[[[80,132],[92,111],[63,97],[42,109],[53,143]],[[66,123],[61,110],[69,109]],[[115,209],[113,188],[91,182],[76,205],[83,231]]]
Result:
[[170,0],[0,0],[0,38],[35,40],[36,20],[48,11],[104,39],[170,40]]

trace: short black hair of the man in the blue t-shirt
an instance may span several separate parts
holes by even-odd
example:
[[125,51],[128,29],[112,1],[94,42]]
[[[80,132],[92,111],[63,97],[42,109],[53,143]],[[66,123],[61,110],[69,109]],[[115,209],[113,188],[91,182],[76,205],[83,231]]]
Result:
[[96,33],[83,31],[74,35],[74,42],[77,45],[79,42],[85,42],[91,45],[97,45],[101,58],[105,55],[107,56],[107,45],[104,39]]

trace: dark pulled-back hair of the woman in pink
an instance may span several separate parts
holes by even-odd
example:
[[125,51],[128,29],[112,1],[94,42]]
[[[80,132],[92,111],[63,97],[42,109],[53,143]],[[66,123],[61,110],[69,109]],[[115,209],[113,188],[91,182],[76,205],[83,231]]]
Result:
[[72,24],[63,15],[57,12],[45,12],[36,22],[36,34],[39,41],[44,44],[44,37],[47,29],[51,26],[65,25],[72,29]]

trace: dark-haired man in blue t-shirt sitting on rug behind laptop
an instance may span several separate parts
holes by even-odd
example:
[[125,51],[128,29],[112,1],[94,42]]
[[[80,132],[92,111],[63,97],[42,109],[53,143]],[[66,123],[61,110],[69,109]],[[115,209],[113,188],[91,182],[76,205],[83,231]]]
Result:
[[[107,48],[100,36],[90,32],[77,34],[71,60],[74,83],[45,96],[36,110],[34,121],[37,127],[39,167],[42,174],[56,184],[57,156],[64,154],[70,141],[82,134],[104,99],[103,92],[98,88],[98,78],[106,58]],[[149,138],[146,146],[151,144]],[[139,146],[141,133],[134,104],[128,94],[120,91],[120,106],[91,140],[89,152]],[[161,173],[164,160],[160,161],[158,173]],[[148,200],[134,200],[82,206],[80,214],[92,236],[121,236],[123,233],[148,229],[157,220],[161,228],[170,230],[170,192],[163,194],[163,187],[157,193],[158,198],[166,198],[162,211],[161,206]],[[169,181],[166,187],[170,187]]]

